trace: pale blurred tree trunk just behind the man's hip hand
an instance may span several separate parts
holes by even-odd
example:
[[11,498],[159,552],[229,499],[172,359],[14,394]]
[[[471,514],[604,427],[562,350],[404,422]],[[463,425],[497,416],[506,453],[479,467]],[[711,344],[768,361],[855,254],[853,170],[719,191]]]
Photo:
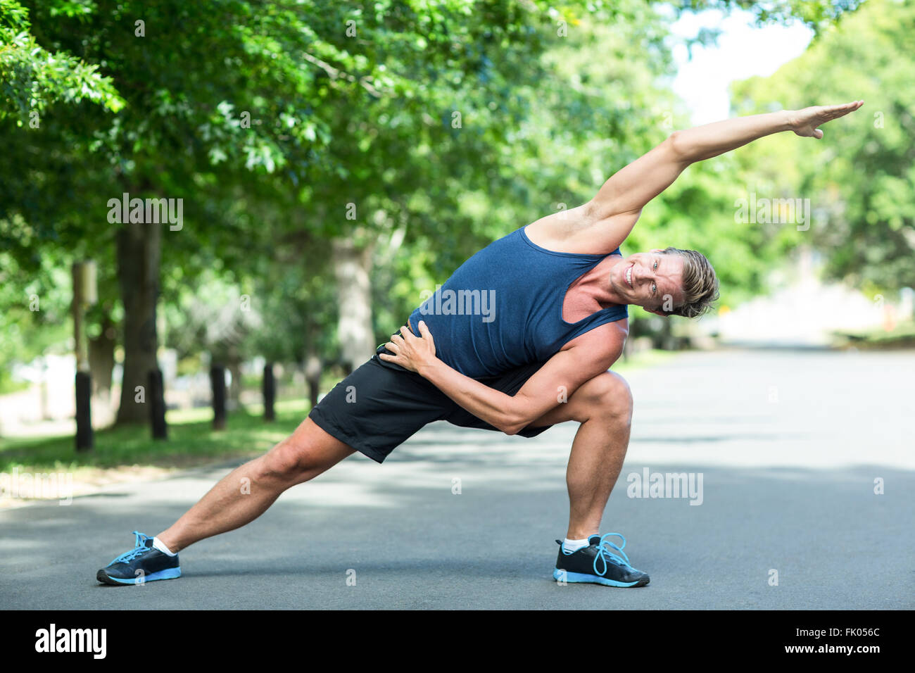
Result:
[[360,249],[348,240],[334,241],[333,262],[340,307],[340,360],[349,373],[368,360],[377,345],[371,328],[371,247]]

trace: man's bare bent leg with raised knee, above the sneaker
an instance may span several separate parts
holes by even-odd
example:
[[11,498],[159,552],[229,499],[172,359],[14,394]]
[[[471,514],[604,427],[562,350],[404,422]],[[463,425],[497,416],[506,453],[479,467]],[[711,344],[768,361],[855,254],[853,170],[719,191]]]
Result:
[[584,539],[600,530],[600,519],[629,447],[632,394],[619,374],[605,372],[581,385],[568,401],[531,427],[568,420],[581,423],[565,470],[569,527],[565,537]]

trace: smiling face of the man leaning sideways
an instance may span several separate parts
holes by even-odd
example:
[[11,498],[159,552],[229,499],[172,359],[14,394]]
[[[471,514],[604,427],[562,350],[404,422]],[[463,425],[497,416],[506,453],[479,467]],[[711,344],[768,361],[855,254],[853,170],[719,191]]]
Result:
[[626,303],[665,315],[684,301],[684,259],[664,255],[660,249],[636,253],[622,259],[610,270],[610,286]]

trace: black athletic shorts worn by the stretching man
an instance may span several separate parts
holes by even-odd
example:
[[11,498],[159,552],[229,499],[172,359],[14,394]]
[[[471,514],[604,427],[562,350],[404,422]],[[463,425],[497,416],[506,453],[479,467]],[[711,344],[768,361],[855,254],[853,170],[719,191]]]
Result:
[[[383,462],[391,451],[434,420],[447,420],[461,428],[499,431],[459,407],[419,374],[399,364],[384,362],[378,353],[388,351],[379,346],[371,360],[335,385],[311,410],[308,418],[377,462]],[[528,364],[499,376],[477,380],[513,396],[543,365]],[[518,434],[535,437],[549,428],[525,428]]]

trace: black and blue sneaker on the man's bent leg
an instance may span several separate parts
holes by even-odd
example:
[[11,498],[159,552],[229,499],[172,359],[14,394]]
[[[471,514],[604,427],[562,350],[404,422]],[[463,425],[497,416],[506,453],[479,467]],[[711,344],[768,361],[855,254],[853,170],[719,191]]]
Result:
[[[622,547],[617,547],[606,538],[615,535],[622,539]],[[565,552],[562,540],[559,543],[559,558],[553,570],[553,579],[568,582],[593,582],[608,587],[643,587],[649,582],[648,575],[635,570],[629,564],[629,557],[623,552],[626,538],[619,533],[608,533],[604,536],[592,535],[587,538],[590,543],[573,551]],[[621,557],[612,553],[619,551]]]

